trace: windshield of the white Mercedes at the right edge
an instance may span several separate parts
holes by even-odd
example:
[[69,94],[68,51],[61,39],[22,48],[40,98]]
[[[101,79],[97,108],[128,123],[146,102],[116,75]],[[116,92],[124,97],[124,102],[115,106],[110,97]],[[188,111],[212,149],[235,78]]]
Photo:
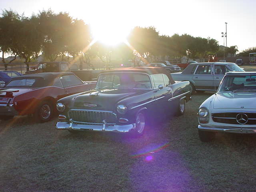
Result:
[[226,91],[256,91],[256,75],[225,76],[218,92]]

